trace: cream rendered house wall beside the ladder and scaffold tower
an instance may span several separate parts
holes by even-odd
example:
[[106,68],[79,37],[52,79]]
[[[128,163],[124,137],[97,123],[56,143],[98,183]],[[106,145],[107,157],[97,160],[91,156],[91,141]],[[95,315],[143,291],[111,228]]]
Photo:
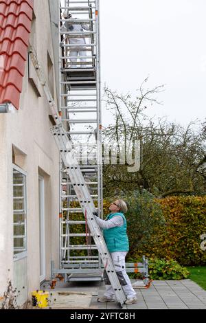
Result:
[[[34,1],[36,52],[47,76],[47,54],[54,63],[49,2]],[[34,36],[34,35],[32,35]],[[14,278],[12,150],[15,164],[27,172],[27,296],[40,287],[38,175],[45,179],[46,280],[51,260],[58,266],[59,155],[50,131],[49,105],[38,82],[38,96],[25,66],[20,109],[0,114],[0,297]],[[54,71],[55,76],[55,71]],[[56,82],[54,77],[54,99]]]

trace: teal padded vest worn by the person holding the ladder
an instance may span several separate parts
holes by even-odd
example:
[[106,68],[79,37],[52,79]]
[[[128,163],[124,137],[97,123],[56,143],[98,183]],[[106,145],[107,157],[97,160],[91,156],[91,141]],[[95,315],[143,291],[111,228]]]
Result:
[[126,234],[126,218],[123,213],[111,213],[108,214],[106,220],[110,220],[113,216],[122,216],[124,224],[122,227],[111,227],[111,229],[104,229],[104,240],[106,242],[109,252],[128,252],[129,243],[128,236]]

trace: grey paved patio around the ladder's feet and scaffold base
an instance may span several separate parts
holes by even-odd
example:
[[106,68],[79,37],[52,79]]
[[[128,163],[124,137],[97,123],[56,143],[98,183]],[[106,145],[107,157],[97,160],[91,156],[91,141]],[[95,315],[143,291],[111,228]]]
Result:
[[[45,289],[52,293],[52,309],[118,309],[115,302],[97,302],[104,295],[104,282],[58,282],[56,289],[49,289],[47,284]],[[125,305],[125,308],[206,309],[206,291],[190,279],[154,280],[149,289],[135,291],[137,304]]]

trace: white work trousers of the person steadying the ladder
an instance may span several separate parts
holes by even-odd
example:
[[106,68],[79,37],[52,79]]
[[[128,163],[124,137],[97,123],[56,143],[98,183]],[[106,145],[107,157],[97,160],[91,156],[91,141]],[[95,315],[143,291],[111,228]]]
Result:
[[[132,284],[130,282],[130,278],[128,278],[128,275],[126,274],[126,267],[125,267],[126,254],[127,254],[127,252],[111,252],[111,257],[113,259],[115,271],[122,271],[122,275],[124,276],[124,280],[126,281],[126,285],[122,286],[126,297],[127,298],[134,298],[134,297],[136,297],[136,293],[132,287]],[[105,286],[106,286],[106,292],[104,293],[104,296],[106,296],[108,298],[113,298],[115,296],[115,292],[113,290],[113,287],[111,285],[105,285]]]

